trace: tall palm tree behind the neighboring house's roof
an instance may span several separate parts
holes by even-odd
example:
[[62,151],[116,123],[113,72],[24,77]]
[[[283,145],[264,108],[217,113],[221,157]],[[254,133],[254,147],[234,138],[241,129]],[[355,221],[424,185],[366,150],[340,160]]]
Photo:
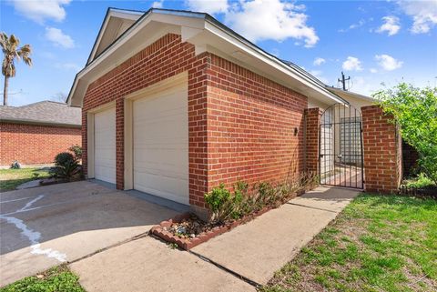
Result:
[[3,105],[7,106],[7,87],[9,86],[9,77],[15,76],[15,64],[14,61],[18,61],[23,58],[26,65],[32,65],[32,59],[30,54],[32,54],[32,48],[30,45],[20,45],[20,40],[11,35],[8,37],[5,33],[0,34],[0,45],[2,46],[3,54],[5,58],[2,64],[2,74],[5,76],[5,88],[3,89]]

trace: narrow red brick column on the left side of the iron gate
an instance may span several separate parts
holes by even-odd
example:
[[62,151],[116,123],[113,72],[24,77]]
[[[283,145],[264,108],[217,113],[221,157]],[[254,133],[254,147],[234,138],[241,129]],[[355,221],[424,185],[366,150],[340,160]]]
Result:
[[307,171],[316,173],[319,173],[319,131],[322,113],[319,107],[305,109],[305,165]]

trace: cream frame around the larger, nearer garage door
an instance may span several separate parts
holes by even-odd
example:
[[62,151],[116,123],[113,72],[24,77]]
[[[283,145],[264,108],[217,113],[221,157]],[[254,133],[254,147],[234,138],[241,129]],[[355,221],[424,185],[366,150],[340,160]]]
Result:
[[[177,76],[169,77],[166,80],[160,81],[152,86],[147,86],[146,88],[140,89],[135,93],[132,93],[125,97],[125,189],[134,188],[134,101],[137,99],[147,98],[147,96],[156,96],[160,92],[171,92],[175,88],[180,88],[181,86],[187,86],[188,88],[188,72],[183,72]],[[187,89],[188,90],[188,89]],[[187,96],[188,98],[188,93]],[[188,110],[188,99],[187,99],[187,110]],[[187,119],[188,126],[188,119]],[[188,133],[187,133],[188,135]],[[187,136],[188,138],[188,136]],[[188,142],[187,142],[188,143]],[[188,171],[188,151],[187,151],[187,171]],[[188,177],[187,177],[188,181]],[[185,190],[188,195],[188,185],[187,190]],[[152,194],[155,195],[155,194]],[[165,197],[165,196],[164,196]],[[172,199],[170,197],[167,197]],[[178,203],[188,205],[188,196],[182,200],[177,198],[174,200]]]

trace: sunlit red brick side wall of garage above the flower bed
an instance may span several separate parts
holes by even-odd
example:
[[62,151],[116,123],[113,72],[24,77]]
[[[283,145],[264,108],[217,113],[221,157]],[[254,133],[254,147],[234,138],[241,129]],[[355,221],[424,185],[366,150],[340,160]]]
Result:
[[307,97],[210,57],[208,189],[238,180],[281,182],[302,171]]

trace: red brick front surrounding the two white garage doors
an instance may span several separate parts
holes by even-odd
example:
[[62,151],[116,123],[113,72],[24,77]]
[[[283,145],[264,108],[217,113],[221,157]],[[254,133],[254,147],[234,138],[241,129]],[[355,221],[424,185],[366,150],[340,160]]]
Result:
[[[190,204],[203,206],[207,191],[206,90],[207,54],[195,55],[194,45],[168,34],[147,46],[117,68],[88,86],[82,111],[83,146],[86,150],[86,114],[90,109],[116,101],[117,188],[124,188],[124,96],[168,77],[188,71],[188,159]],[[83,156],[86,169],[86,151]]]

